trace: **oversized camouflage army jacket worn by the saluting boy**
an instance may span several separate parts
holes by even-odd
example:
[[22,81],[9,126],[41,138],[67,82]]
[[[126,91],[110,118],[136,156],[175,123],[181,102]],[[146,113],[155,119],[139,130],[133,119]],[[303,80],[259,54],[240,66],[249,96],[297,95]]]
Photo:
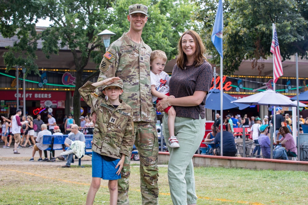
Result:
[[121,104],[114,108],[103,95],[93,97],[91,93],[96,87],[91,84],[88,81],[79,89],[79,93],[97,114],[92,151],[116,159],[121,158],[121,153],[130,157],[135,140],[132,108],[122,100]]

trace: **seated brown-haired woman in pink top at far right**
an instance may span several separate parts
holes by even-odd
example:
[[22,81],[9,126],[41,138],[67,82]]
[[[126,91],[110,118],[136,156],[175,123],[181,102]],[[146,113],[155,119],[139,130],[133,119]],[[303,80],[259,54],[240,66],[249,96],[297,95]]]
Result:
[[[278,139],[279,135],[282,135],[282,138],[280,140]],[[297,147],[289,128],[287,128],[286,126],[279,128],[276,142],[278,142],[278,140],[282,147],[286,148],[287,156],[297,156]]]

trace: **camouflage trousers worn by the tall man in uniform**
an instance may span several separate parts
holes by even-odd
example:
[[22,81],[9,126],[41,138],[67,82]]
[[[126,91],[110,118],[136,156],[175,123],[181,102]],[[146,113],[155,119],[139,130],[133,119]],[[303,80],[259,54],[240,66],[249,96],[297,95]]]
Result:
[[[135,146],[140,158],[142,204],[158,204],[158,139],[155,123],[134,122]],[[126,156],[118,179],[118,204],[129,204],[128,189],[131,158]]]

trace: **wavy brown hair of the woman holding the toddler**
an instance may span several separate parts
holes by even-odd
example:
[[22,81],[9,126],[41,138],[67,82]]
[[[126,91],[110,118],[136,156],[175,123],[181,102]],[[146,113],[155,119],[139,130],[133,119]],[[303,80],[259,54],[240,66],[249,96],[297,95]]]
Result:
[[189,30],[189,31],[185,31],[178,43],[178,55],[177,55],[177,60],[176,60],[176,64],[179,68],[184,69],[185,65],[187,64],[188,60],[187,60],[187,56],[184,53],[183,49],[182,49],[182,38],[185,34],[189,34],[193,37],[193,40],[195,42],[196,45],[196,53],[194,55],[194,63],[193,66],[198,67],[200,65],[203,64],[203,61],[207,61],[206,57],[204,56],[204,53],[206,52],[205,46],[200,38],[200,36],[193,30]]

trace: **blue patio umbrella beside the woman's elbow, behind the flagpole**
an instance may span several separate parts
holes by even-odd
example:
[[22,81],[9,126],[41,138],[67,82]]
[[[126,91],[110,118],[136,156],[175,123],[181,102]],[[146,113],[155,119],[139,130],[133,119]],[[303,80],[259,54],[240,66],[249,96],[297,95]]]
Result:
[[[227,110],[231,108],[239,108],[240,110],[248,108],[250,105],[242,103],[231,103],[231,101],[237,100],[235,97],[228,95],[227,93],[222,94],[222,109]],[[211,89],[205,101],[205,108],[212,110],[220,110],[220,90]]]

